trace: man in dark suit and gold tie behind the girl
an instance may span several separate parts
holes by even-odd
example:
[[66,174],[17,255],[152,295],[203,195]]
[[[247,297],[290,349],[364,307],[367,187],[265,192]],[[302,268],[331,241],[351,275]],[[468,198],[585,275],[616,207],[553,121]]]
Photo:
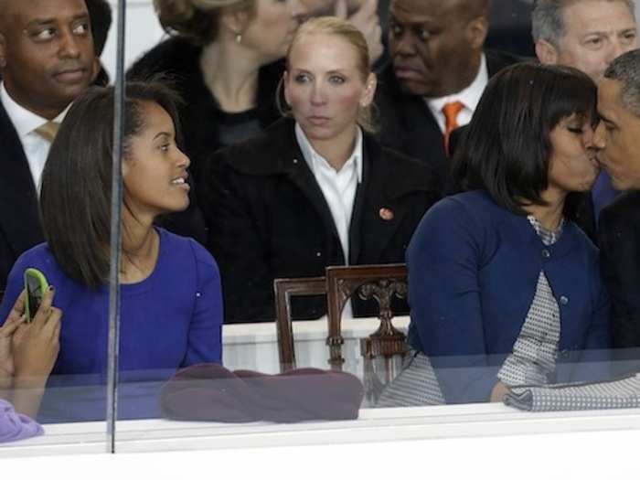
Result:
[[94,59],[84,0],[0,2],[0,290],[17,257],[43,241],[37,184]]

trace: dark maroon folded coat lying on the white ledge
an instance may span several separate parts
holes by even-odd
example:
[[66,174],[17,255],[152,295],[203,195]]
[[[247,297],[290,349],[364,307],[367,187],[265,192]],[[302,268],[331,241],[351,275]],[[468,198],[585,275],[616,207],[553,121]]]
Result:
[[352,420],[364,396],[357,377],[318,368],[278,375],[218,364],[184,368],[160,392],[165,418],[184,421]]

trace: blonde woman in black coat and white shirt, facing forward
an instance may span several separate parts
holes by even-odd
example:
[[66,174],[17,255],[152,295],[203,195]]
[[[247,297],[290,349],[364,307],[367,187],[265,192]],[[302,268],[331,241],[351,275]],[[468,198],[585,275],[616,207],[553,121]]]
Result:
[[[371,104],[376,76],[365,38],[321,17],[298,30],[286,59],[288,116],[212,158],[203,198],[228,322],[273,321],[273,279],[327,265],[402,262],[435,175],[380,147]],[[325,314],[325,299],[293,303]]]

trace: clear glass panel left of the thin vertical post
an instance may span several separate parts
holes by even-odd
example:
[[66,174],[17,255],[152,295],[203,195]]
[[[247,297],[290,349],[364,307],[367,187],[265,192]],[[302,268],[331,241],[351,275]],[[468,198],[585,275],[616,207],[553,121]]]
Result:
[[105,450],[112,139],[94,132],[113,103],[88,107],[105,7],[0,5],[0,456]]

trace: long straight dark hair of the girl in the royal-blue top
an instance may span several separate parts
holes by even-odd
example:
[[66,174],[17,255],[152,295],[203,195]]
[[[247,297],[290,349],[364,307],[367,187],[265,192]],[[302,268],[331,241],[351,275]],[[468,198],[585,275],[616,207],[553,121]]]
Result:
[[[146,101],[160,105],[179,135],[177,94],[157,80],[130,82],[124,106],[124,159],[145,128]],[[111,231],[112,87],[92,87],[73,102],[42,173],[40,214],[48,247],[60,268],[97,289],[109,278]]]

